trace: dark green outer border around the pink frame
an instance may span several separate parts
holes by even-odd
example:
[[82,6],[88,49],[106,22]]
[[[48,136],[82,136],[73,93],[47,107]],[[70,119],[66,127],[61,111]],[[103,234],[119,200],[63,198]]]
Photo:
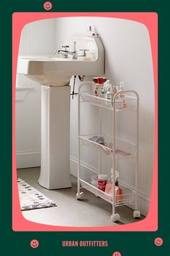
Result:
[[[120,251],[123,255],[169,255],[169,7],[162,1],[51,1],[53,8],[49,12],[157,12],[158,13],[158,231],[156,232],[14,232],[12,231],[11,171],[12,171],[12,13],[13,12],[46,12],[42,0],[4,2],[1,8],[1,60],[3,72],[1,73],[1,90],[6,97],[1,97],[1,136],[3,150],[1,174],[1,249],[17,255],[112,255]],[[6,7],[4,7],[6,5]],[[6,51],[5,51],[6,49]],[[9,67],[8,69],[6,67]],[[166,93],[165,93],[166,90]],[[164,105],[163,105],[164,101]],[[166,111],[165,111],[166,110]],[[166,113],[166,114],[165,114]],[[6,136],[4,136],[4,132]],[[6,182],[10,181],[10,182]],[[8,191],[9,190],[9,191]],[[161,236],[164,244],[156,247],[154,239]],[[30,247],[30,240],[38,239],[40,246],[37,249]],[[107,240],[108,247],[62,247],[62,240]]]

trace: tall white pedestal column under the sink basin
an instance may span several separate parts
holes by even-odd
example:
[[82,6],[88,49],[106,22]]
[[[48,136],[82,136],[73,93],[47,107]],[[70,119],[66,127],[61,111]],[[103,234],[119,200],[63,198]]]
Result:
[[71,187],[70,86],[42,86],[41,171],[47,189]]

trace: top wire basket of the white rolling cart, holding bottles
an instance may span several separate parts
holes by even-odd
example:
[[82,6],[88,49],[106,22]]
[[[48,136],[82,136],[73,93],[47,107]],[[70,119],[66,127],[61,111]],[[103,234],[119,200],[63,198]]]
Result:
[[[102,108],[113,109],[113,101],[100,98],[92,95],[91,92],[81,92],[81,102],[87,102],[94,106],[100,106]],[[125,108],[120,107],[119,99],[116,99],[116,112],[122,111],[136,111],[137,110],[137,98],[132,95],[126,95],[127,106]],[[118,104],[117,104],[118,103]]]

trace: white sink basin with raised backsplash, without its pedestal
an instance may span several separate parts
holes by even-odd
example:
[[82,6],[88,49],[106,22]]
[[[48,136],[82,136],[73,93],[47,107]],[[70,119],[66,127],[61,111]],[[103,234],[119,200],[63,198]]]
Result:
[[[91,57],[73,59],[60,55],[19,56],[17,73],[27,75],[40,85],[63,86],[73,75],[104,74],[104,48],[99,38],[92,38],[96,51]],[[90,54],[90,51],[88,52]]]

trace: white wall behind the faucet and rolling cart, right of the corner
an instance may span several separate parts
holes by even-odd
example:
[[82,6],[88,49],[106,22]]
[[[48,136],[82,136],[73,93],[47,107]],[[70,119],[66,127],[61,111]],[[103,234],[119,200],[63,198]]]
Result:
[[[102,38],[106,54],[106,76],[112,84],[125,81],[125,89],[136,90],[140,97],[139,113],[139,202],[143,214],[148,213],[153,174],[153,69],[148,30],[138,22],[100,17],[69,17],[56,20],[56,43],[60,48],[67,35],[86,35],[89,25],[94,25]],[[91,77],[86,77],[86,81]],[[71,80],[71,85],[73,81]],[[76,82],[76,90],[80,82]],[[77,163],[77,98],[71,100],[71,173],[76,176]],[[97,110],[84,110],[82,127],[89,127],[96,119]],[[109,116],[104,114],[106,127],[111,127]],[[119,126],[119,136],[133,140],[132,116],[125,114]],[[97,122],[96,122],[97,129]],[[128,137],[127,137],[128,134]],[[98,155],[93,151],[82,153],[83,168],[98,168]],[[111,166],[111,161],[104,159],[104,171]],[[119,161],[122,182],[134,187],[134,162]]]

